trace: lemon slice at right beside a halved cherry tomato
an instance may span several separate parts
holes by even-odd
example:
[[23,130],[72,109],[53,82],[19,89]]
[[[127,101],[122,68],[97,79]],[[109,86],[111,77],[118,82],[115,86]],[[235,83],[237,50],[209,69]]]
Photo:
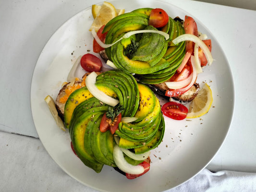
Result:
[[190,103],[187,118],[196,118],[206,114],[211,107],[212,101],[212,91],[206,83]]

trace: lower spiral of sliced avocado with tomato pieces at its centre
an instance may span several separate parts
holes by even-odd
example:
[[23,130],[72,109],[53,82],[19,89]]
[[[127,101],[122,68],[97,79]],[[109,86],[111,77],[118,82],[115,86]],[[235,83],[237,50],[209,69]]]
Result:
[[[69,129],[74,151],[89,168],[100,172],[103,165],[116,167],[114,136],[120,137],[119,147],[144,153],[159,145],[164,135],[164,119],[158,98],[144,84],[122,70],[110,70],[97,76],[96,86],[118,99],[123,106],[122,117],[137,117],[132,123],[120,123],[115,134],[99,130],[101,118],[109,105],[100,102],[85,87],[75,90],[64,110],[64,123]],[[125,157],[133,165],[141,161]]]

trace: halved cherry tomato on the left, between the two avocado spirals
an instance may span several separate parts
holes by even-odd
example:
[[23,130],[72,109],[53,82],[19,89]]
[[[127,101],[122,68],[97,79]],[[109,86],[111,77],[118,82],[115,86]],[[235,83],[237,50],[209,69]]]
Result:
[[90,53],[85,54],[81,58],[81,67],[85,69],[85,71],[93,72],[93,71],[100,71],[102,67],[101,60]]

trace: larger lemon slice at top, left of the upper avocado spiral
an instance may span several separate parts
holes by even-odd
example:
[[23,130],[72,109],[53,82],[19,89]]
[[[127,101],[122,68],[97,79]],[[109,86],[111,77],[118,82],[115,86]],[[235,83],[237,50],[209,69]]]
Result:
[[117,16],[116,8],[109,2],[104,1],[102,6],[93,5],[92,14],[95,17],[89,31],[94,28],[97,32],[99,28],[107,24],[111,19]]

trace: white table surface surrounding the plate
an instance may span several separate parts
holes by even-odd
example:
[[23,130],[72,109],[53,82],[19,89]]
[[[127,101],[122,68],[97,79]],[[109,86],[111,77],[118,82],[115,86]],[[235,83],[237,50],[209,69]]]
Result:
[[[0,131],[38,137],[30,109],[30,84],[37,58],[62,23],[98,2],[101,0],[0,1]],[[232,124],[207,168],[256,172],[256,11],[192,0],[169,2],[204,23],[219,41],[232,70]]]

